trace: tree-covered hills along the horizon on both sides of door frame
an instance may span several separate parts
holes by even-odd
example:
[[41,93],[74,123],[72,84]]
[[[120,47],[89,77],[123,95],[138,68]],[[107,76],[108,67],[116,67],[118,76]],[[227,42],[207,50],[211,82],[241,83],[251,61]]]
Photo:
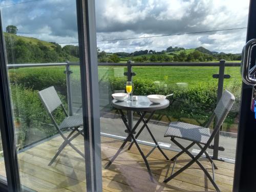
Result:
[[[61,47],[55,42],[16,35],[17,28],[8,26],[4,33],[8,63],[44,63],[79,61],[78,46]],[[185,49],[168,47],[166,50],[140,50],[133,53],[108,53],[98,48],[98,62],[205,62],[220,59],[239,61],[241,54],[211,52],[203,47]]]

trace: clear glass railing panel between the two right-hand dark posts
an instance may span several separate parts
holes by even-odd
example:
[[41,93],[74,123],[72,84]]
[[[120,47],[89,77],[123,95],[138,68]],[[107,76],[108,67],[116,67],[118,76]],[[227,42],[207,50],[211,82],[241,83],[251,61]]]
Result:
[[[211,112],[215,108],[218,80],[212,78],[218,74],[218,67],[178,66],[178,67],[133,67],[134,94],[167,95],[170,105],[164,110],[156,111],[150,121],[150,128],[157,141],[170,150],[178,151],[179,148],[170,138],[163,137],[169,122],[182,121],[203,126],[206,124]],[[196,77],[196,78],[195,78]],[[135,116],[135,118],[138,118]],[[150,135],[144,130],[140,139],[152,142]],[[180,140],[187,145],[189,142]],[[193,152],[198,150],[193,147]],[[195,151],[196,152],[196,151]],[[211,150],[208,151],[211,153]]]

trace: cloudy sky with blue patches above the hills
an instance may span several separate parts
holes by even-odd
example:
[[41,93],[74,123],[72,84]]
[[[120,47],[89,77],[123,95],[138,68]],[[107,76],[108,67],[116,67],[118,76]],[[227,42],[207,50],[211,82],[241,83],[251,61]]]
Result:
[[[3,28],[67,45],[77,42],[75,0],[0,1]],[[25,3],[27,2],[27,3]],[[96,0],[98,47],[108,52],[169,46],[241,53],[246,29],[100,41],[247,27],[249,0]],[[77,44],[73,44],[77,45]]]

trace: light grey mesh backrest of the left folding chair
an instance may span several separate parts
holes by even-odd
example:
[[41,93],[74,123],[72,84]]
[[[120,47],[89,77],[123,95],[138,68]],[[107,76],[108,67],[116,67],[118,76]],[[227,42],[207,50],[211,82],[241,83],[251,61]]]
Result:
[[53,86],[39,91],[38,94],[49,113],[53,112],[62,104]]

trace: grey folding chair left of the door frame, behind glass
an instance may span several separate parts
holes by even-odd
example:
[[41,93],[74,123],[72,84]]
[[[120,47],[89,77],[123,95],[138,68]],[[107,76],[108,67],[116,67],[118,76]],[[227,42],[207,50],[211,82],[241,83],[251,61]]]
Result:
[[[42,104],[44,105],[45,109],[47,110],[52,123],[56,127],[58,133],[60,136],[64,139],[63,143],[58,148],[57,153],[53,157],[53,159],[48,164],[49,166],[55,161],[55,159],[58,157],[60,152],[67,146],[70,145],[79,155],[81,155],[84,158],[84,155],[81,151],[76,148],[71,141],[75,139],[78,135],[83,136],[83,129],[79,130],[79,127],[83,125],[82,115],[74,115],[69,116],[67,111],[65,110],[62,102],[59,99],[59,96],[54,89],[54,87],[46,88],[42,91],[38,92],[38,95],[42,101]],[[55,111],[59,106],[61,106],[63,112],[66,115],[66,118],[58,125],[52,115],[52,112]],[[66,137],[61,130],[67,130],[71,129],[72,131],[69,133],[69,135]],[[74,134],[77,131],[76,134]],[[74,134],[74,135],[73,135]]]

